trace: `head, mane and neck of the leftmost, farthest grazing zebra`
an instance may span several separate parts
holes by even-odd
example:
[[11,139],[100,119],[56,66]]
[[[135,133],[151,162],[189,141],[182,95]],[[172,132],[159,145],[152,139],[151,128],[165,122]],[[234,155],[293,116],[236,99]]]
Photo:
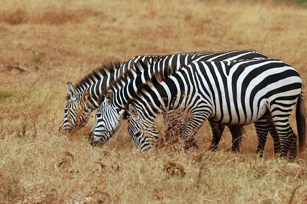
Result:
[[[84,127],[91,112],[99,107],[98,97],[101,90],[108,84],[123,75],[129,67],[138,60],[147,59],[147,56],[136,56],[125,63],[113,62],[104,64],[89,75],[82,78],[74,87],[67,84],[68,100],[64,108],[64,119],[59,130],[71,132]],[[157,60],[158,56],[149,56],[149,61]]]

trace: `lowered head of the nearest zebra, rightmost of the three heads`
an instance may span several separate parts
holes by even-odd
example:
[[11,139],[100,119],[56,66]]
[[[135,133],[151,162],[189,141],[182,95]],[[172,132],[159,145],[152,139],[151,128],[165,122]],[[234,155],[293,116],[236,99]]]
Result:
[[154,149],[153,142],[158,140],[159,132],[152,119],[140,114],[134,105],[129,104],[126,110],[128,118],[128,133],[133,140],[136,149],[141,151]]

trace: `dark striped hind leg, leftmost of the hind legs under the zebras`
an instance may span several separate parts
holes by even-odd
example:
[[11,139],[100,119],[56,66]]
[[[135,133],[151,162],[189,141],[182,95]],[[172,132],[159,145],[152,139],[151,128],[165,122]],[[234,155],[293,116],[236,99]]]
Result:
[[257,154],[259,154],[259,156],[262,158],[269,133],[266,115],[262,116],[257,121],[255,121],[254,125],[258,137]]

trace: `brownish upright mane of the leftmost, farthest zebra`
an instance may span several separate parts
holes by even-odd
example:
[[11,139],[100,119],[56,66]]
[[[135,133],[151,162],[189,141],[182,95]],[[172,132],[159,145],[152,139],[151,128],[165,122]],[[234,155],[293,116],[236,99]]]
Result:
[[[95,81],[94,80],[95,78],[100,79],[101,76],[106,76],[109,73],[114,72],[115,70],[119,69],[124,63],[125,62],[122,63],[120,61],[112,61],[107,64],[102,64],[101,66],[93,70],[90,74],[87,74],[85,77],[83,77],[74,87],[75,90],[82,87],[82,85],[92,83],[91,80]],[[69,99],[70,99],[70,95],[67,94],[66,100],[69,100]]]

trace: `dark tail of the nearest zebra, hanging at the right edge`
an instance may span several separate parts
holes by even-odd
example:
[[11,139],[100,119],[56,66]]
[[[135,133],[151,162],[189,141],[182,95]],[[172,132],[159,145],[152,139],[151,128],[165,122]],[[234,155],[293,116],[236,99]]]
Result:
[[298,152],[302,152],[306,137],[306,107],[303,92],[298,97],[296,105],[296,126],[298,132]]

